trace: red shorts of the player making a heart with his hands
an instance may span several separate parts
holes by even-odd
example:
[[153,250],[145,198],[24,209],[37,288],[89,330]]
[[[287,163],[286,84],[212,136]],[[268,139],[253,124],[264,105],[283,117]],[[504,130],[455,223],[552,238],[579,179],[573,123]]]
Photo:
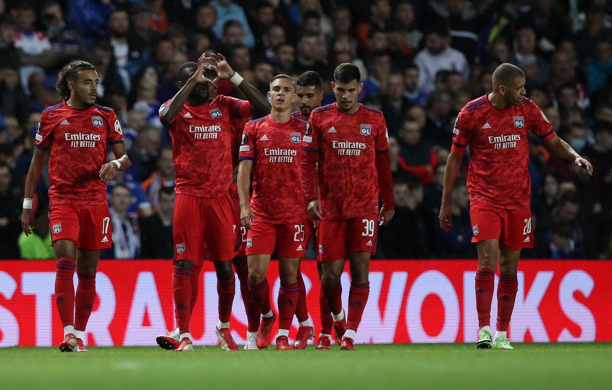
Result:
[[172,220],[174,261],[200,263],[206,253],[212,261],[231,260],[236,246],[235,219],[229,194],[200,198],[177,193]]

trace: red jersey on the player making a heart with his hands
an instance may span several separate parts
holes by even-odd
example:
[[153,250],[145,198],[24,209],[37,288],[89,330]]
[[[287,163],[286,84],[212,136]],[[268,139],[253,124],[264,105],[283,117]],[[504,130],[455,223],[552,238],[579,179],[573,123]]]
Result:
[[[168,102],[162,104],[165,107]],[[199,106],[187,103],[168,125],[176,168],[176,193],[216,198],[228,193],[232,179],[234,121],[251,115],[246,100],[219,95]]]

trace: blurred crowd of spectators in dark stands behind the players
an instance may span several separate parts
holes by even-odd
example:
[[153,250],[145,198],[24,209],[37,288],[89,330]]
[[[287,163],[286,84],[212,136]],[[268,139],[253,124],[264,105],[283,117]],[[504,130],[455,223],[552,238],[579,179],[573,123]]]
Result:
[[276,73],[316,70],[324,104],[335,66],[359,67],[360,101],[387,120],[397,202],[377,258],[476,257],[469,152],[452,230],[438,223],[452,124],[491,90],[496,66],[521,67],[528,97],[594,165],[589,177],[530,140],[535,249],[523,257],[612,258],[611,10],[610,0],[0,0],[0,258],[53,258],[46,173],[29,237],[21,202],[41,111],[77,58],[96,67],[99,103],[116,111],[132,161],[108,186],[114,248],[103,257],[172,257],[174,167],[158,109],[177,92],[177,68],[210,51],[264,94]]

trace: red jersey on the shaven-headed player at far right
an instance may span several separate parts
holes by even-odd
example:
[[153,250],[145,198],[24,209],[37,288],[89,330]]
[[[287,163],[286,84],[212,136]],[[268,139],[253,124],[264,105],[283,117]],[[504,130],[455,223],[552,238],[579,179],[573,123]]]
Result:
[[452,150],[469,145],[468,192],[471,204],[526,209],[531,203],[527,131],[544,141],[555,137],[548,118],[523,97],[521,104],[500,110],[488,95],[463,107],[453,129]]

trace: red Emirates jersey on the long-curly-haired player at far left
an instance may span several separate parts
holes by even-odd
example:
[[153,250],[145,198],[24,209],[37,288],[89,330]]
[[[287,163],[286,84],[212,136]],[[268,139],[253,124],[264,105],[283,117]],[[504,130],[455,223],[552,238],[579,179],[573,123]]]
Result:
[[116,143],[123,143],[123,132],[112,108],[94,104],[75,110],[62,102],[45,109],[35,148],[50,151],[50,202],[106,204],[106,183],[99,173],[108,144]]

